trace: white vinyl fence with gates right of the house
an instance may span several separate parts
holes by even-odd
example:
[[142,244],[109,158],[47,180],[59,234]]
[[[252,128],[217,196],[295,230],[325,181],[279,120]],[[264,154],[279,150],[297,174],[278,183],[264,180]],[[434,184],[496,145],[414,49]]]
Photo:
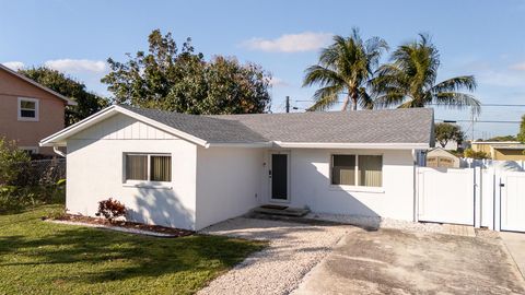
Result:
[[418,220],[525,232],[525,172],[417,169]]

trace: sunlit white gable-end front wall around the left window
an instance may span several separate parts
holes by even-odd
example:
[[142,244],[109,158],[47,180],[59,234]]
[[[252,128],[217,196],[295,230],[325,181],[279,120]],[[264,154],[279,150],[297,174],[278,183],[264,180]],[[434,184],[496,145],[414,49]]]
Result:
[[[69,213],[93,216],[97,202],[121,201],[138,222],[195,229],[197,146],[125,115],[68,140]],[[163,187],[125,184],[124,153],[170,153],[172,182]]]

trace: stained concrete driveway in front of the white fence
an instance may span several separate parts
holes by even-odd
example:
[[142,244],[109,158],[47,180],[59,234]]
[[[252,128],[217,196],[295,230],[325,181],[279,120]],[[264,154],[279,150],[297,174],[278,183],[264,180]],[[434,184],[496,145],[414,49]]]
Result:
[[525,294],[501,239],[354,228],[292,294]]

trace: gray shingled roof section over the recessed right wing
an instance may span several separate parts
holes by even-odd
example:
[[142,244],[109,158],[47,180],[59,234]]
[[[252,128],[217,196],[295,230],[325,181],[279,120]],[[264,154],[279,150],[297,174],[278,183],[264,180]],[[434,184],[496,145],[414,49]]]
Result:
[[122,106],[210,143],[425,143],[430,108],[197,116]]

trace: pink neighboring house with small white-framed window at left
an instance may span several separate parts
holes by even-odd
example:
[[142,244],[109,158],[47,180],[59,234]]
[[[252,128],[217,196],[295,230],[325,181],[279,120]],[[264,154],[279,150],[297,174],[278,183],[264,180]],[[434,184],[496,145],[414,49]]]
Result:
[[52,155],[40,139],[63,129],[70,98],[0,64],[0,137],[15,140],[22,150]]

